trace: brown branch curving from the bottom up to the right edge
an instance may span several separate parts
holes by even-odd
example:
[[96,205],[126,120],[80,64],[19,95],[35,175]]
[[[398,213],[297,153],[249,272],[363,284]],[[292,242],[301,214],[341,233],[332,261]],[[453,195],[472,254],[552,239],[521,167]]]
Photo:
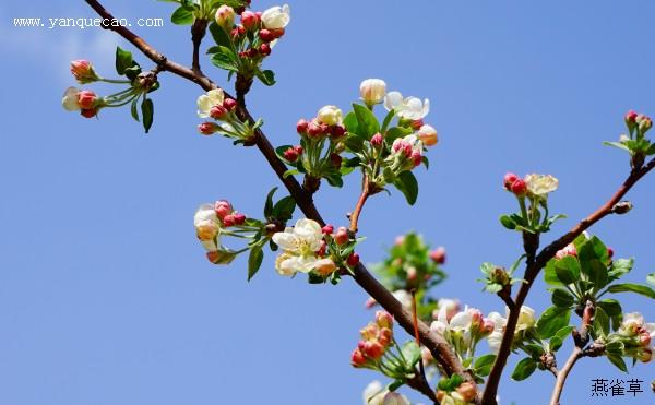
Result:
[[563,249],[567,245],[575,240],[577,236],[580,236],[583,231],[588,229],[592,225],[603,219],[608,214],[614,213],[615,206],[642,177],[644,177],[648,171],[653,169],[653,167],[655,167],[655,159],[648,162],[646,166],[632,169],[630,171],[630,176],[628,176],[628,178],[626,179],[626,181],[623,181],[621,187],[619,187],[615,194],[605,204],[603,204],[598,210],[593,212],[590,216],[582,219],[567,234],[564,234],[559,239],[556,239],[546,248],[544,248],[539,252],[539,254],[537,254],[534,261],[528,262],[525,269],[524,277],[526,283],[522,284],[521,288],[519,289],[519,293],[516,293],[516,298],[514,299],[515,307],[513,310],[510,311],[510,314],[508,317],[508,323],[505,326],[505,332],[502,336],[502,343],[498,352],[498,357],[493,362],[491,373],[489,374],[489,378],[487,380],[485,393],[483,395],[483,404],[496,404],[498,384],[500,382],[502,370],[507,365],[507,360],[512,348],[512,341],[514,336],[514,331],[516,330],[516,322],[519,320],[521,307],[525,302],[527,294],[541,269],[544,269],[546,263],[548,263],[548,261],[555,257],[558,250]]

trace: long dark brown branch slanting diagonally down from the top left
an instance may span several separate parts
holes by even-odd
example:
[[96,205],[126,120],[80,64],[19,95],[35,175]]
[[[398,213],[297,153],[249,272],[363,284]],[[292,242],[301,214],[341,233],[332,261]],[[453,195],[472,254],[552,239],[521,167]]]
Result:
[[[114,16],[105,10],[105,8],[96,0],[85,0],[103,19],[114,19]],[[150,58],[152,61],[157,63],[160,71],[168,71],[183,79],[187,79],[205,91],[218,88],[214,82],[212,82],[204,74],[195,73],[191,69],[186,68],[181,64],[175,63],[168,60],[164,55],[159,53],[153,47],[151,47],[144,39],[132,33],[127,27],[106,27],[107,29],[114,31],[118,35],[126,38],[134,47],[136,47],[143,55]],[[231,97],[227,92],[227,97]],[[231,97],[234,98],[234,97]],[[238,115],[241,119],[253,122],[252,116],[245,108],[245,105],[239,105]],[[254,143],[264,155],[266,162],[271,165],[279,180],[287,188],[291,196],[296,200],[296,203],[305,215],[319,224],[324,225],[325,222],[318,212],[313,204],[312,198],[308,194],[298,181],[293,177],[285,177],[284,174],[287,171],[285,164],[277,158],[273,145],[269,142],[264,133],[258,129],[255,131]],[[403,308],[401,302],[380,284],[376,277],[364,266],[361,263],[355,267],[355,282],[359,284],[380,306],[382,306],[389,313],[391,313],[396,322],[410,335],[414,332],[414,324],[412,322],[412,313]],[[419,337],[424,346],[426,346],[434,359],[440,364],[443,371],[451,376],[457,373],[463,376],[467,381],[472,381],[469,373],[464,372],[462,364],[456,358],[448,342],[440,335],[431,333],[429,326],[425,322],[418,324]]]

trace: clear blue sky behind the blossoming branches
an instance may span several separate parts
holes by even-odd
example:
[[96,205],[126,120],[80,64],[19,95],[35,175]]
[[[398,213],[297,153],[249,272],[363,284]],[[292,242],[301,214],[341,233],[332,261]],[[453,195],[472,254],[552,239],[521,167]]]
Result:
[[[253,115],[264,118],[273,143],[285,144],[296,139],[298,118],[325,104],[346,109],[362,79],[430,98],[428,121],[441,142],[429,152],[430,170],[419,169],[418,203],[407,207],[398,193],[370,201],[360,222],[369,238],[359,250],[378,261],[396,235],[416,229],[448,249],[449,279],[434,294],[485,312],[502,306],[474,282],[479,264],[509,264],[520,254],[519,235],[497,221],[514,210],[500,187],[504,172],[560,179],[551,211],[569,215],[553,227],[561,234],[629,170],[628,157],[602,141],[618,138],[628,109],[655,115],[655,4],[646,0],[289,3],[291,25],[266,62],[278,84],[254,86]],[[172,10],[154,1],[105,5],[133,19],[168,21]],[[154,95],[148,135],[127,109],[99,121],[63,111],[61,94],[74,84],[69,61],[87,58],[110,75],[116,45],[128,45],[94,29],[17,28],[19,16],[93,14],[82,1],[0,5],[0,403],[359,403],[376,377],[348,364],[371,317],[366,294],[350,281],[317,287],[279,277],[272,254],[248,284],[243,261],[213,266],[194,238],[201,203],[227,198],[239,211],[261,213],[277,180],[257,151],[198,135],[201,91],[168,74]],[[189,62],[188,28],[167,23],[138,33]],[[207,62],[205,70],[225,83]],[[345,222],[357,184],[353,178],[342,190],[321,189],[325,218]],[[636,258],[635,282],[655,267],[654,184],[646,178],[630,193],[629,215],[592,229],[617,255]],[[622,298],[624,310],[655,320],[652,302]],[[539,312],[549,305],[543,283],[527,303]],[[584,359],[562,402],[591,398],[593,378],[650,381],[655,373],[653,364],[628,377],[605,359]],[[501,401],[544,403],[552,382],[545,372],[505,381]],[[652,398],[646,392],[621,403]]]

